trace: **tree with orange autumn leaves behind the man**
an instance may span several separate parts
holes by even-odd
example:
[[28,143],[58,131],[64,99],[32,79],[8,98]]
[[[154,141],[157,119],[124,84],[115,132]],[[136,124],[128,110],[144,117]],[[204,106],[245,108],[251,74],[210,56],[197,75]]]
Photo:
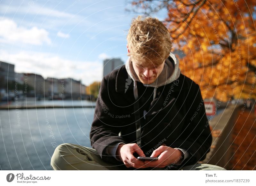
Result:
[[256,1],[173,0],[132,2],[135,12],[166,13],[163,20],[181,72],[206,98],[256,98]]

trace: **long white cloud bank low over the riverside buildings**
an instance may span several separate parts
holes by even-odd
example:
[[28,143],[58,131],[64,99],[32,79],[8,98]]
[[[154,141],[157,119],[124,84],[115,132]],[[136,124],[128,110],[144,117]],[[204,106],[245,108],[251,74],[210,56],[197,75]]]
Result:
[[102,62],[73,61],[42,52],[22,51],[16,54],[0,51],[0,60],[15,65],[15,72],[35,73],[44,78],[74,78],[89,85],[101,81],[103,77]]

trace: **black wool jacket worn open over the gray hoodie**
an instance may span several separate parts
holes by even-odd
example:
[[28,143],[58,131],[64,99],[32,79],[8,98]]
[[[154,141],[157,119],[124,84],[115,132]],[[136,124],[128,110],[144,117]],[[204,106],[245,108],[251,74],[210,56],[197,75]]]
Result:
[[[102,79],[96,101],[91,145],[103,160],[111,163],[120,162],[106,154],[107,146],[119,142],[136,143],[135,98],[131,81],[125,66],[114,70]],[[210,151],[212,135],[198,84],[180,74],[176,81],[159,87],[154,100],[153,87],[145,87],[141,82],[137,82],[137,87],[141,149],[145,155],[150,157],[164,141],[167,146],[186,149],[191,154],[180,166],[205,159]],[[144,110],[148,112],[145,118]]]

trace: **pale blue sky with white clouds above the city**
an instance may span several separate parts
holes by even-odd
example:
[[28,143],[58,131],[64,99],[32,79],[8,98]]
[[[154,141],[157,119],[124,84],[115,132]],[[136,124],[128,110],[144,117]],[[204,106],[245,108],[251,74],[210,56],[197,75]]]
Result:
[[[1,1],[0,61],[17,73],[81,80],[103,78],[103,60],[128,58],[126,35],[137,7],[129,0]],[[140,14],[142,15],[142,14]],[[167,13],[152,17],[163,20]]]

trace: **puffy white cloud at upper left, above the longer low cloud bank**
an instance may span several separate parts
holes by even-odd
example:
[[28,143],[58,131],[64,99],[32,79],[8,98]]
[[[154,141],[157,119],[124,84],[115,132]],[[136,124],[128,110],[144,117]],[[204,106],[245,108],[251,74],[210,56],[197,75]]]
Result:
[[[32,27],[27,29],[24,27],[18,27],[17,24],[10,19],[0,19],[0,37],[2,37],[4,42],[23,42],[34,45],[41,45],[46,42],[51,44],[51,39],[48,37],[49,33],[45,29],[39,29],[37,27]],[[3,42],[3,41],[2,41]]]

